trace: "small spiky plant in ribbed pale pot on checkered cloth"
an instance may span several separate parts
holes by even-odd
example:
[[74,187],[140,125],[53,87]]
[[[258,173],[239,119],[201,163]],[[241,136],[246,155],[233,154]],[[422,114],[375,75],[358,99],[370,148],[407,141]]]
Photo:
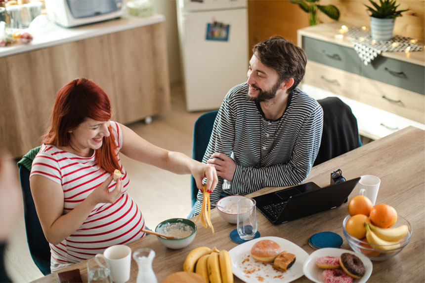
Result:
[[371,12],[371,35],[375,40],[390,40],[392,38],[392,31],[394,29],[395,18],[401,17],[401,13],[408,11],[397,10],[396,0],[379,0],[376,3],[369,0],[373,6],[364,4],[368,11]]

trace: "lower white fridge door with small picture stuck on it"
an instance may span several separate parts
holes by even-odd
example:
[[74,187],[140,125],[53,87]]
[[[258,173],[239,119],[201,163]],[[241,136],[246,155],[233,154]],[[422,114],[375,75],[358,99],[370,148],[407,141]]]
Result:
[[[182,13],[180,31],[187,110],[217,109],[247,80],[247,9]],[[228,41],[206,40],[207,24],[229,24]]]

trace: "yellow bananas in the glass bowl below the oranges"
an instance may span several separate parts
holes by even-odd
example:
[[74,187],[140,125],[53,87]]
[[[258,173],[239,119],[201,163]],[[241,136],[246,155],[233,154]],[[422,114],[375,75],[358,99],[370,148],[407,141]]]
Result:
[[365,223],[366,239],[372,248],[391,250],[400,247],[399,240],[407,235],[409,229],[407,225],[397,228],[380,228],[371,223]]

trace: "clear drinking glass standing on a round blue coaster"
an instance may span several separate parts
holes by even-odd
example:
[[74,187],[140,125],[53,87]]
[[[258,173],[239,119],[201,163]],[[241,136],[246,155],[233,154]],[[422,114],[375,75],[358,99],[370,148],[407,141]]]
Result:
[[243,198],[238,201],[237,231],[241,239],[248,241],[257,232],[257,215],[255,200]]

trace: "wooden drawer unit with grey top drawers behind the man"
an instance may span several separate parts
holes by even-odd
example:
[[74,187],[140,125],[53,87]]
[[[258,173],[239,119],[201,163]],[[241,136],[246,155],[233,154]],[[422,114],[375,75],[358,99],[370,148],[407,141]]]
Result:
[[383,52],[364,65],[340,23],[298,30],[307,54],[301,88],[322,99],[337,96],[357,118],[359,133],[379,139],[407,126],[425,128],[425,52]]

